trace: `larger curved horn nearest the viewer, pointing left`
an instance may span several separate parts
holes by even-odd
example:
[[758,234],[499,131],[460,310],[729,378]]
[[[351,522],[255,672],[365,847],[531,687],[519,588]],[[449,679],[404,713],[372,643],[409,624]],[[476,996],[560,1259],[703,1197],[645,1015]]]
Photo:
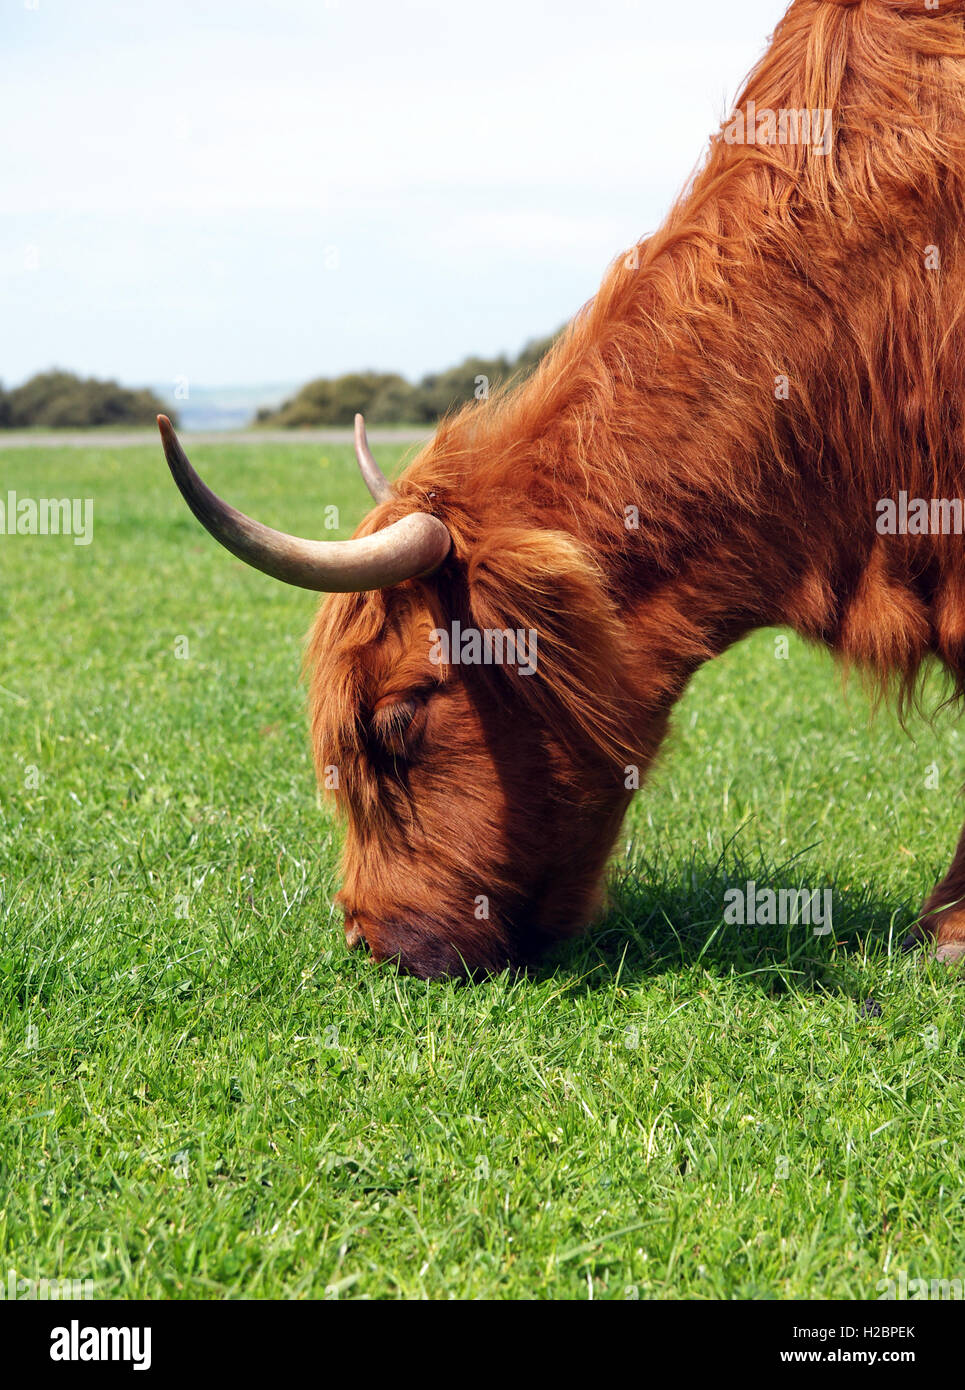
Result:
[[157,427],[174,481],[202,525],[239,560],[275,580],[323,594],[362,594],[431,574],[449,553],[449,532],[427,512],[355,541],[303,541],[273,531],[202,482],[167,416],[157,417]]

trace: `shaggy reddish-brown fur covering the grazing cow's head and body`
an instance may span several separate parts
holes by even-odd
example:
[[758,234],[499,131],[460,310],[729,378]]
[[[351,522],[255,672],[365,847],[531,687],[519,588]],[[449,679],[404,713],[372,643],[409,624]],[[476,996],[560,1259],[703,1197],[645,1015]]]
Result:
[[[434,512],[445,567],[318,616],[316,756],[375,959],[499,969],[577,931],[627,766],[752,628],[902,702],[929,655],[965,689],[965,539],[876,530],[882,498],[965,493],[965,0],[797,0],[751,99],[830,108],[830,152],[715,139],[537,374],[446,421],[360,528]],[[432,666],[453,617],[537,630],[537,674]],[[959,847],[927,906],[962,895]],[[965,940],[965,912],[930,927]]]

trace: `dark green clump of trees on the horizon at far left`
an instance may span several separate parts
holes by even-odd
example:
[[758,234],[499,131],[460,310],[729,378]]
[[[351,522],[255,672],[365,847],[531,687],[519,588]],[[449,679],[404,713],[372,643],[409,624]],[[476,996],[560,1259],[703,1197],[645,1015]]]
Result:
[[6,430],[149,425],[161,411],[175,418],[153,391],[132,391],[115,381],[82,378],[72,371],[38,373],[22,386],[0,391],[0,428]]

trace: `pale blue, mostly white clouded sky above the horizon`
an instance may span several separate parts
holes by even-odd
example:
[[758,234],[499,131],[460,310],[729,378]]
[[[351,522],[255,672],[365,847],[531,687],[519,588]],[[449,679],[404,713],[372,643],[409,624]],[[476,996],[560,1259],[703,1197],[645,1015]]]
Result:
[[786,0],[0,0],[0,379],[414,377],[566,321]]

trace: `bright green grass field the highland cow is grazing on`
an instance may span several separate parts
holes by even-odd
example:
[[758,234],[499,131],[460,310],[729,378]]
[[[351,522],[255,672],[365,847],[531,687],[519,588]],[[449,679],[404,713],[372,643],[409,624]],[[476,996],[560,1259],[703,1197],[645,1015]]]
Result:
[[[348,449],[195,461],[288,530],[366,509]],[[97,1298],[962,1277],[962,992],[897,954],[965,815],[948,714],[908,738],[758,634],[680,706],[608,920],[533,979],[427,986],[348,955],[332,916],[313,596],[218,549],[159,448],[4,450],[7,489],[93,498],[95,538],[0,537],[0,1276]],[[830,887],[834,930],[724,924],[748,878]]]

